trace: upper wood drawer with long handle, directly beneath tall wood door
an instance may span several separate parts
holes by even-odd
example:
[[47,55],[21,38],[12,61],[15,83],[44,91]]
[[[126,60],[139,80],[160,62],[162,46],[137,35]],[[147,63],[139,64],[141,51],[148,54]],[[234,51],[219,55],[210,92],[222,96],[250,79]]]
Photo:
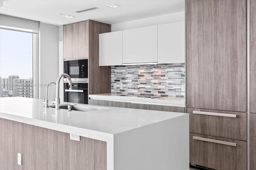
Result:
[[246,113],[194,108],[187,112],[191,133],[247,141]]

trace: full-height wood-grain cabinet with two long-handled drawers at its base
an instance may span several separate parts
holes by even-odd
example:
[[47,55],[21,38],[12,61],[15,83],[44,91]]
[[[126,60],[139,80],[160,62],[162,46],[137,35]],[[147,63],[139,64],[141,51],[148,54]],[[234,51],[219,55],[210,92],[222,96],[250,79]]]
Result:
[[186,0],[186,51],[190,163],[246,170],[246,0]]

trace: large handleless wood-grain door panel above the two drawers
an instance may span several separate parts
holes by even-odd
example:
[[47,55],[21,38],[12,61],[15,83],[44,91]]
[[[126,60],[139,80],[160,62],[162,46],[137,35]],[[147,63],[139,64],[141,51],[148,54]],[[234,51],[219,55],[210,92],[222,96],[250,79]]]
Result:
[[187,0],[187,107],[246,112],[246,0]]

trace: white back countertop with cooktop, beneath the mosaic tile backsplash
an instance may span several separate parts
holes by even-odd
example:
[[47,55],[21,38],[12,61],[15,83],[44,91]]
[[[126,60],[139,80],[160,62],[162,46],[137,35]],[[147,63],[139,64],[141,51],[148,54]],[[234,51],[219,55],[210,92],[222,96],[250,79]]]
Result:
[[160,98],[138,98],[138,97],[128,97],[120,96],[122,94],[115,93],[105,93],[105,94],[90,94],[90,99],[95,100],[110,100],[116,102],[130,102],[138,104],[152,104],[152,105],[164,105],[164,106],[177,106],[185,107],[185,98],[182,97],[160,97]]

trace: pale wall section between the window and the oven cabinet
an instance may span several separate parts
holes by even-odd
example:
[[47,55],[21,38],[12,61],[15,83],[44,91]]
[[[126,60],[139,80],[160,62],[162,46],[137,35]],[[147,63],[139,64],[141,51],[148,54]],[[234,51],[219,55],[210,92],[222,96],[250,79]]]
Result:
[[[59,28],[48,23],[39,24],[39,83],[56,82],[58,78],[58,39]],[[48,88],[48,99],[52,100],[52,93],[56,97],[56,86]],[[39,89],[39,98],[45,97],[46,86]]]

